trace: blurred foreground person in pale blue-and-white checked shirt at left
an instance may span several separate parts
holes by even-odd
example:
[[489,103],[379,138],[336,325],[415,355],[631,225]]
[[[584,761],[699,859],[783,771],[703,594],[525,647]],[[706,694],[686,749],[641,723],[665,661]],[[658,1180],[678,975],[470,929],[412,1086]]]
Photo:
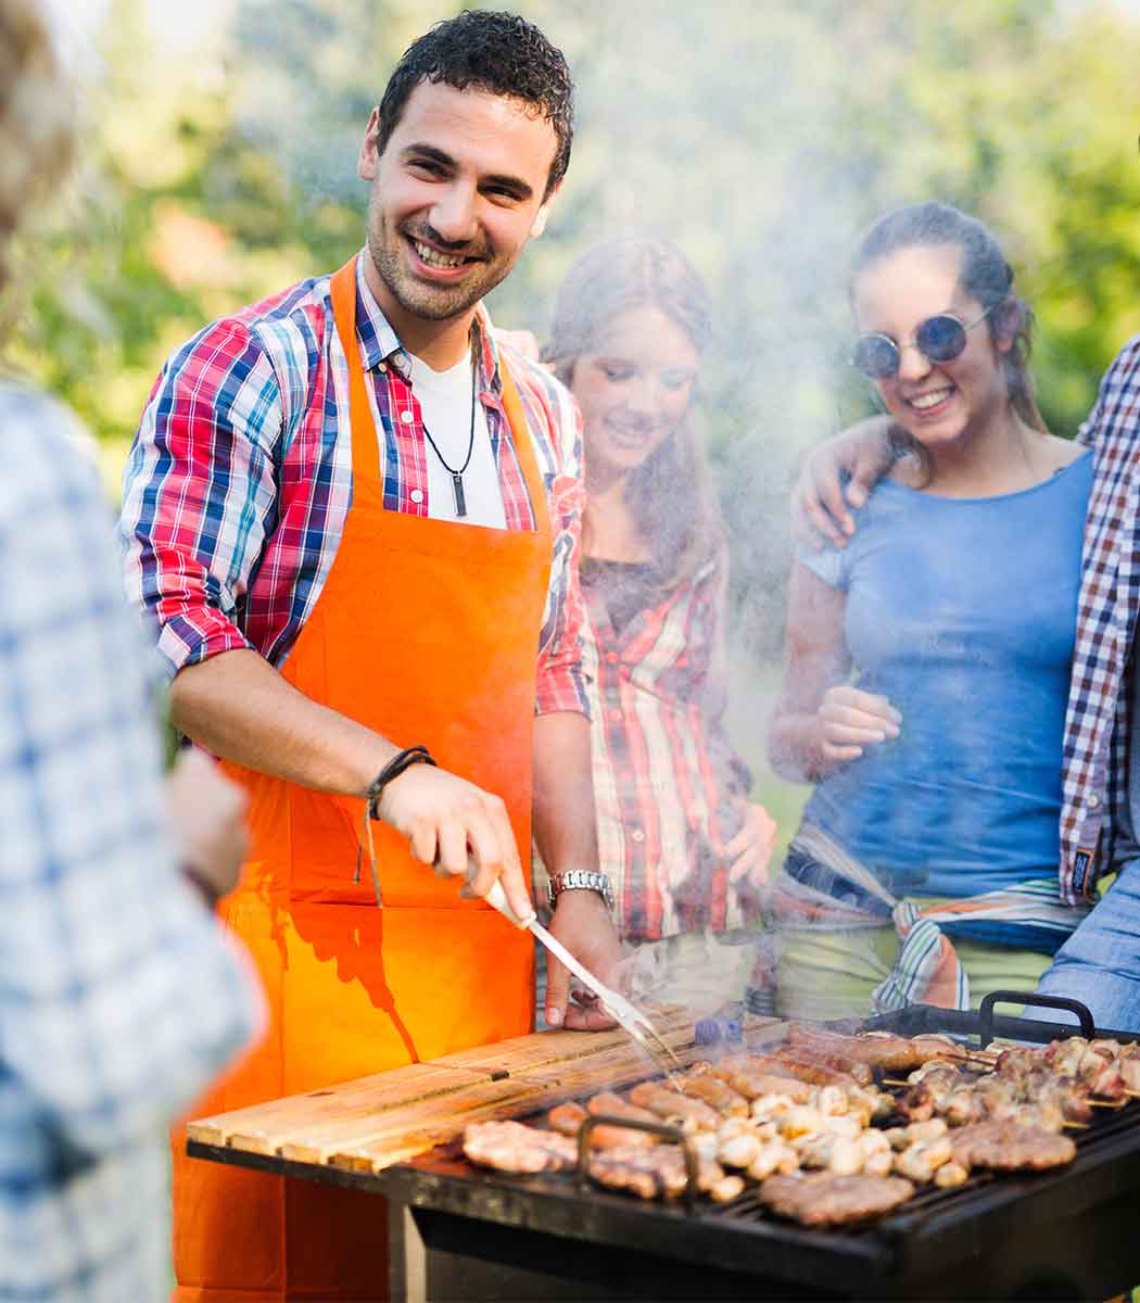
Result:
[[[0,287],[73,130],[39,5],[0,0]],[[0,437],[0,1298],[158,1299],[165,1128],[258,1023],[178,859],[207,898],[228,890],[242,800],[202,760],[163,790],[150,657],[78,425],[9,378]]]

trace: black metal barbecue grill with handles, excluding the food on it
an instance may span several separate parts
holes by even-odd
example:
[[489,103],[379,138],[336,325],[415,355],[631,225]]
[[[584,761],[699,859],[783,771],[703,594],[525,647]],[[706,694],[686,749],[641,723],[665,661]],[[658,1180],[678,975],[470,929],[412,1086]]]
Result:
[[[911,1006],[861,1025],[948,1031],[973,1044],[1046,1042],[1079,1029],[1001,1016],[994,1006],[1006,999],[1072,1010],[1085,1036],[1140,1038],[1094,1028],[1075,1002],[1019,993],[995,993],[978,1012]],[[728,1204],[642,1203],[569,1174],[487,1171],[457,1141],[379,1173],[194,1141],[189,1149],[386,1195],[395,1298],[1105,1299],[1140,1281],[1140,1101],[1096,1111],[1064,1167],[924,1188],[890,1216],[829,1230],[774,1218],[754,1187]]]

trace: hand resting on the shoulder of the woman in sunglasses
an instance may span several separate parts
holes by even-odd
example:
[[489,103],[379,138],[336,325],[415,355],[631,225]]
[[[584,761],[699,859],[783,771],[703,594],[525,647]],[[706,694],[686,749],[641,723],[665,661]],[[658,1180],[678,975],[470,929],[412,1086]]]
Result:
[[[846,547],[855,533],[852,507],[861,507],[894,461],[890,417],[873,416],[816,448],[804,461],[792,490],[792,530],[819,549]],[[844,496],[840,477],[849,476]]]

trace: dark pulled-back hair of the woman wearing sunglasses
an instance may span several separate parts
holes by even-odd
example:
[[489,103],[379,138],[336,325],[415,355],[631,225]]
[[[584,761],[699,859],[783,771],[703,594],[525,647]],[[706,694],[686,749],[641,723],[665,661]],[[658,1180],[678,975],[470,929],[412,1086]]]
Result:
[[851,261],[849,292],[873,263],[916,245],[962,250],[959,284],[989,313],[990,340],[1012,336],[1012,347],[1001,354],[1010,405],[1034,430],[1046,431],[1033,394],[1029,353],[1033,344],[1033,313],[1024,298],[1014,293],[1014,270],[1006,262],[997,240],[977,218],[948,203],[912,203],[889,212],[868,231]]

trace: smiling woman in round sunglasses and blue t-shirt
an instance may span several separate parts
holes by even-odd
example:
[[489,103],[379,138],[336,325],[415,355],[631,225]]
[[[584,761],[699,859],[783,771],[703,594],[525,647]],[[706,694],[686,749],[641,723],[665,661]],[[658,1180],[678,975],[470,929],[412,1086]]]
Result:
[[1032,990],[1084,916],[1057,863],[1092,459],[1045,429],[980,222],[881,219],[851,304],[900,455],[848,546],[792,576],[770,754],[816,788],[771,909],[796,1016]]

